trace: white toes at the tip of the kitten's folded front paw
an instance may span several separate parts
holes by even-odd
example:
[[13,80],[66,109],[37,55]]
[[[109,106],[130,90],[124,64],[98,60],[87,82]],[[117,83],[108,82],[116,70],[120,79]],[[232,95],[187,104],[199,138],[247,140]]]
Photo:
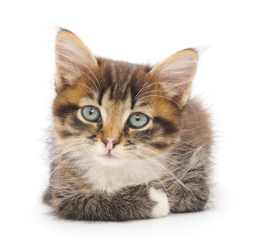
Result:
[[149,195],[150,198],[157,203],[152,210],[152,217],[160,218],[168,215],[169,203],[166,192],[162,189],[155,189],[151,187],[149,189]]

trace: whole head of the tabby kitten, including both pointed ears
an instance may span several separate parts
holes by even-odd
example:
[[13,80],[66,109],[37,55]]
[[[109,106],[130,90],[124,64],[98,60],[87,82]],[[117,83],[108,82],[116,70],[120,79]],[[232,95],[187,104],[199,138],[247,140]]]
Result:
[[95,57],[61,30],[55,50],[53,116],[62,153],[115,166],[163,155],[176,143],[197,68],[193,49],[153,67],[131,64]]

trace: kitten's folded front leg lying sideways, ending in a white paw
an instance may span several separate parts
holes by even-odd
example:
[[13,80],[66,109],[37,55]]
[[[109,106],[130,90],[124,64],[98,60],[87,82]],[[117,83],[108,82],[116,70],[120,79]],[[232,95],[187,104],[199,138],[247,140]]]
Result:
[[115,194],[53,193],[52,205],[61,218],[89,221],[127,221],[164,217],[167,194],[146,185],[123,188]]

